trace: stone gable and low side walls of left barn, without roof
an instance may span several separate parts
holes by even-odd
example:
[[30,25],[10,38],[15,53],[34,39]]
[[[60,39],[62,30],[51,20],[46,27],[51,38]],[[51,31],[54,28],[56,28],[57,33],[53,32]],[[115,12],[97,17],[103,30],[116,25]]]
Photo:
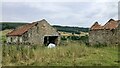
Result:
[[[55,28],[53,28],[47,21],[41,20],[35,22],[36,25],[30,28],[22,36],[8,36],[7,43],[15,44],[44,44],[45,36],[58,36],[58,44],[60,35]],[[20,27],[22,28],[22,27]]]

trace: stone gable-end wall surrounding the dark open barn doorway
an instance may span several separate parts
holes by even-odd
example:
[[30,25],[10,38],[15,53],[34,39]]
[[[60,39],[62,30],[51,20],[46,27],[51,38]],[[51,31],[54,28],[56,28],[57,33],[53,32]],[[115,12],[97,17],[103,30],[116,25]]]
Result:
[[[49,23],[46,21],[38,21],[36,26],[33,26],[27,32],[28,40],[31,44],[40,44],[44,43],[44,36],[59,36],[56,29],[54,29]],[[58,42],[60,38],[58,38]]]

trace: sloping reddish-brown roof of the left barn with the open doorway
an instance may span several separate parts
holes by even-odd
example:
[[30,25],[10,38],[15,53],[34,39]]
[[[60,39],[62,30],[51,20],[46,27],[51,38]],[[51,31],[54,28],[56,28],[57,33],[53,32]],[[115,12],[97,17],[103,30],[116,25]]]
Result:
[[20,26],[13,30],[12,32],[8,33],[7,36],[21,36],[25,32],[27,32],[30,28],[32,28],[36,23],[26,24],[23,26]]

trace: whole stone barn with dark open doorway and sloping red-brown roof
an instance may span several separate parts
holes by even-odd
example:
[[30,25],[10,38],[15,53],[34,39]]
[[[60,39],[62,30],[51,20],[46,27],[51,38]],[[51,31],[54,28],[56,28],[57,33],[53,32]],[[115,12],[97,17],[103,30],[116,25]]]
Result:
[[60,42],[60,34],[45,19],[26,24],[14,29],[7,35],[9,44],[39,44],[48,45]]

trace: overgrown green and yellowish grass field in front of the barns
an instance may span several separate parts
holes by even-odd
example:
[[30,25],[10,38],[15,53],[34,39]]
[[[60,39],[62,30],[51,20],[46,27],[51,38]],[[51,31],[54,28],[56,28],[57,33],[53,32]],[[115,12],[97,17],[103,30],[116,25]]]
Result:
[[77,41],[56,48],[12,45],[3,46],[4,66],[118,66],[118,48],[88,47]]

